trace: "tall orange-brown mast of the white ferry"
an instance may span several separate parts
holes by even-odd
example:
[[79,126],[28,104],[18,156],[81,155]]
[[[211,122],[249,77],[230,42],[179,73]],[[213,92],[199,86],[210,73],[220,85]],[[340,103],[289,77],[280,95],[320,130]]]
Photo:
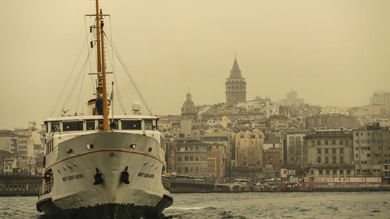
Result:
[[103,130],[102,131],[109,131],[103,26],[104,26],[103,12],[100,9],[100,14],[99,14],[99,1],[96,0],[96,44],[97,44],[96,99],[101,99],[103,97]]

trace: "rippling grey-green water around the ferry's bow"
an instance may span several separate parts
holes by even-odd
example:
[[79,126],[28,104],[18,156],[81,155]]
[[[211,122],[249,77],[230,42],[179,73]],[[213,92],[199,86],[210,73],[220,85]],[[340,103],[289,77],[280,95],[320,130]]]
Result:
[[[172,194],[168,219],[387,218],[390,192]],[[44,219],[36,197],[0,197],[0,219]]]

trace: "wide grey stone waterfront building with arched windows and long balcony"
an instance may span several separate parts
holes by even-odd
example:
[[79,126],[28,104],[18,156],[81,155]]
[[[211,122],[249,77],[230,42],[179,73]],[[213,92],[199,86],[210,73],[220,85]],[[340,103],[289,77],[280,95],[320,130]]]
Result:
[[351,129],[324,129],[305,137],[307,182],[326,177],[355,177]]

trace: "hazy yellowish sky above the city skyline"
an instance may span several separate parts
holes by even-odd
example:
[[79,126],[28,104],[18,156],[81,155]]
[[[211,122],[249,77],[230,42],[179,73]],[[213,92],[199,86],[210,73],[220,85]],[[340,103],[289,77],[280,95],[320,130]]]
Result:
[[[92,22],[84,14],[94,13],[94,1],[1,4],[0,129],[27,126],[28,120],[40,124],[50,117],[82,48],[85,21]],[[310,104],[358,106],[368,104],[375,90],[390,91],[388,0],[105,0],[101,8],[112,15],[113,41],[154,114],[179,114],[188,86],[197,105],[225,102],[235,50],[247,100],[259,95],[278,101],[293,88]],[[109,29],[110,19],[105,22]],[[65,96],[86,57],[84,49]],[[140,100],[119,62],[115,72],[129,113]],[[71,113],[80,82],[66,107]],[[92,92],[85,75],[79,112]]]

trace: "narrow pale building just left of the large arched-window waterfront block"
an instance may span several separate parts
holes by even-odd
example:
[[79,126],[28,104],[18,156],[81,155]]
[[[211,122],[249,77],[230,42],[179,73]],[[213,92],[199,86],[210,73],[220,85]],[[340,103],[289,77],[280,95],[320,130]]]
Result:
[[289,170],[303,170],[305,164],[305,140],[307,131],[287,131],[287,165]]

